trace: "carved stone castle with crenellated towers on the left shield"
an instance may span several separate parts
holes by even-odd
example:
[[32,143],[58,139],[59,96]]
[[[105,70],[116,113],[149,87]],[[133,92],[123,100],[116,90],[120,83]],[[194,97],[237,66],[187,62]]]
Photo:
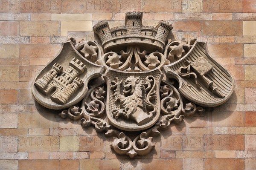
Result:
[[73,58],[69,67],[63,71],[63,67],[55,63],[42,78],[35,82],[35,86],[44,94],[51,95],[52,101],[65,104],[73,94],[84,84],[78,77],[86,70],[84,63]]

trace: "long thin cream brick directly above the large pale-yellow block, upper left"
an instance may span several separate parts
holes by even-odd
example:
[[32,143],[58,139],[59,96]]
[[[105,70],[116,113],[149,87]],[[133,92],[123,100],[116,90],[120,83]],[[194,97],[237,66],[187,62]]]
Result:
[[92,14],[52,14],[52,20],[92,20]]

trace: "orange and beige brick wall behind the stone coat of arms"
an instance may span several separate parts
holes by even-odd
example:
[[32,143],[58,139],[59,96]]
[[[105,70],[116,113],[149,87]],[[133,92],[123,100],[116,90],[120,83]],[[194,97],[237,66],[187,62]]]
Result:
[[[33,78],[67,37],[92,40],[92,26],[167,20],[176,40],[197,37],[235,79],[221,107],[155,139],[149,156],[116,156],[104,135],[36,105]],[[256,169],[255,0],[0,0],[0,169]],[[41,109],[38,111],[38,109]]]

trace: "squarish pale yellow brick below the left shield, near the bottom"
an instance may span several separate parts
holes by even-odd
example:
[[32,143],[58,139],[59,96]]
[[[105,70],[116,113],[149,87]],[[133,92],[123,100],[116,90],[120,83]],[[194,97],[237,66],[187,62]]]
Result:
[[60,136],[60,152],[79,151],[78,136]]

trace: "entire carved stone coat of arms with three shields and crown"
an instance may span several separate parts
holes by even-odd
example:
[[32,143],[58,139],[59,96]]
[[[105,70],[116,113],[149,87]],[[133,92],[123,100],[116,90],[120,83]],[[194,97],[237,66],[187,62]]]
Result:
[[113,137],[111,148],[131,158],[150,153],[172,122],[223,104],[234,89],[207,43],[173,42],[171,24],[143,26],[142,18],[128,12],[125,25],[112,29],[99,22],[100,42],[70,38],[32,86],[39,104]]

